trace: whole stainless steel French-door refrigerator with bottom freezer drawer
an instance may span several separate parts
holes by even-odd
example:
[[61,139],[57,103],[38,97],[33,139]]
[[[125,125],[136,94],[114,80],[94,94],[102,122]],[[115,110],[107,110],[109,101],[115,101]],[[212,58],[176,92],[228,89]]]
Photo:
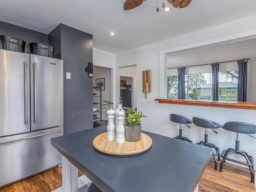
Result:
[[0,188],[61,163],[63,61],[0,50]]

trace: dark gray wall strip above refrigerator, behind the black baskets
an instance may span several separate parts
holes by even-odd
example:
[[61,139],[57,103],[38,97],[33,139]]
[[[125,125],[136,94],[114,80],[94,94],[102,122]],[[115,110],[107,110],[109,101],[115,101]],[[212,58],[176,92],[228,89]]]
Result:
[[[16,25],[8,24],[0,21],[0,35],[13,36],[26,41],[26,47],[30,42],[42,42],[48,44],[48,35],[19,27]],[[25,50],[28,53],[28,50]]]

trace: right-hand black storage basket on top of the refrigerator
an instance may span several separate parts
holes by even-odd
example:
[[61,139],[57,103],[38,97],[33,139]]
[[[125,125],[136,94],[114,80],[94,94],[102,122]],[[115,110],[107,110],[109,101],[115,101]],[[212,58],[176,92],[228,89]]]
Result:
[[53,57],[54,47],[47,44],[41,44],[39,42],[30,42],[28,45],[30,53],[34,55],[40,55],[45,57]]

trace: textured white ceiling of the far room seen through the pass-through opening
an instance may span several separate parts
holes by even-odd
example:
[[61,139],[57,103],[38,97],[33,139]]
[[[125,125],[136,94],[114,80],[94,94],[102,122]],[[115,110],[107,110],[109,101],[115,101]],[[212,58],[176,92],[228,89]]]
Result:
[[256,57],[256,38],[176,51],[167,54],[167,68]]

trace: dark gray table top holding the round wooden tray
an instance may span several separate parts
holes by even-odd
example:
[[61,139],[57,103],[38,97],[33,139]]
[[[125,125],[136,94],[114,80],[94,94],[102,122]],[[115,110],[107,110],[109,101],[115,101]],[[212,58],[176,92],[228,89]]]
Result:
[[135,156],[97,152],[93,139],[106,127],[51,139],[52,145],[103,191],[193,191],[211,158],[211,148],[144,132],[150,150]]

